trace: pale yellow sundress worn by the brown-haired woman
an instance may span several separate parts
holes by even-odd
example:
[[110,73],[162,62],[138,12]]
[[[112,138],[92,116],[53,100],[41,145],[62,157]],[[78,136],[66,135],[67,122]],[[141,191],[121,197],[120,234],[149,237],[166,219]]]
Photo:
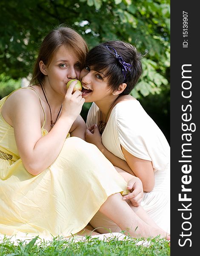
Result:
[[[8,97],[0,100],[0,109]],[[45,136],[48,132],[43,127]],[[70,236],[86,227],[106,199],[126,191],[126,186],[95,145],[70,136],[49,168],[37,176],[29,174],[20,159],[14,129],[0,113],[1,234]]]

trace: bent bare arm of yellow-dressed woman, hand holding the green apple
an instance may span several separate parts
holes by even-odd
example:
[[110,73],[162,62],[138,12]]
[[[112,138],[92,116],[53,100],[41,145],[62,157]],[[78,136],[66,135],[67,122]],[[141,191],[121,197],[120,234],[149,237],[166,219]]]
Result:
[[71,125],[80,114],[85,100],[79,96],[80,91],[71,94],[74,87],[73,83],[71,84],[63,102],[60,118],[44,137],[41,136],[43,113],[37,95],[31,90],[19,90],[12,97],[10,119],[14,127],[17,149],[26,170],[32,175],[43,172],[54,162]]

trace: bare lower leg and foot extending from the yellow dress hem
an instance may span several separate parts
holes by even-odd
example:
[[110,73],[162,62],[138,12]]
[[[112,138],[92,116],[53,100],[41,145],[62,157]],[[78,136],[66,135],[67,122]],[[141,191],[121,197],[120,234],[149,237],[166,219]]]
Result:
[[109,196],[100,207],[100,212],[114,221],[121,230],[126,231],[132,237],[155,237],[167,238],[168,234],[156,227],[151,227],[133,212],[129,204],[122,200],[120,193]]

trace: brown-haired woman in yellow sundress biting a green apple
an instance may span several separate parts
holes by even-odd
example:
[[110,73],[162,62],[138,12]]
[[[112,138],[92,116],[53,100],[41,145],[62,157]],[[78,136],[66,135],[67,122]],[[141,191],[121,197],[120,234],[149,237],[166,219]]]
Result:
[[[0,101],[0,233],[70,236],[100,210],[134,237],[166,234],[152,228],[122,200],[140,201],[140,180],[126,180],[99,149],[85,142],[85,100],[72,93],[87,45],[59,27],[43,40],[31,86]],[[138,198],[139,196],[139,198]],[[137,227],[137,229],[136,229]]]

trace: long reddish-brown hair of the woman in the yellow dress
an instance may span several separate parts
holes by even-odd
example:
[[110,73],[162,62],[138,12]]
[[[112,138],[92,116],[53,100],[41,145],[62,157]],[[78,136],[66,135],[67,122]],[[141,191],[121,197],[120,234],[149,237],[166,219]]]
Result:
[[30,85],[43,84],[44,74],[40,71],[39,63],[43,61],[48,67],[54,53],[62,45],[69,47],[75,52],[80,61],[80,69],[85,66],[86,54],[88,52],[86,41],[74,29],[60,25],[44,38],[34,64]]

